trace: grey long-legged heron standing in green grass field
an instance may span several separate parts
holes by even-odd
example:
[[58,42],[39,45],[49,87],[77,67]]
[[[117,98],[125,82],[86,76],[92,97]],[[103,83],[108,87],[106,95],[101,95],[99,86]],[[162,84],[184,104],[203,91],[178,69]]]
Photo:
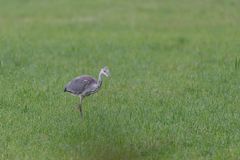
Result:
[[80,103],[78,105],[80,117],[83,117],[83,99],[99,91],[102,86],[103,76],[110,77],[110,71],[107,66],[100,70],[98,80],[89,75],[82,75],[75,77],[65,85],[64,92],[69,92],[73,96],[78,96],[80,98]]

